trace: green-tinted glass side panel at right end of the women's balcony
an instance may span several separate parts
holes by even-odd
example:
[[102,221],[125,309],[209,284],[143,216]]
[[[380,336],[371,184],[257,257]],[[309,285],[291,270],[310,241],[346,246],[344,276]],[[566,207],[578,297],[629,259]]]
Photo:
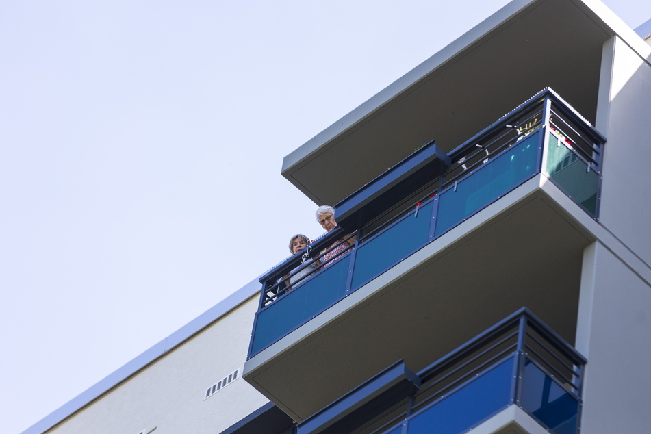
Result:
[[599,175],[593,170],[587,171],[587,164],[554,133],[549,135],[546,173],[573,201],[583,205],[591,216],[596,216]]

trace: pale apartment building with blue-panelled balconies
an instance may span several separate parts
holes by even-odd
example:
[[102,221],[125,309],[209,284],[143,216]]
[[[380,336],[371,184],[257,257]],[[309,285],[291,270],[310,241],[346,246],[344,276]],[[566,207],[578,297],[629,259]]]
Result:
[[337,228],[25,432],[647,432],[648,25],[509,3],[285,157]]

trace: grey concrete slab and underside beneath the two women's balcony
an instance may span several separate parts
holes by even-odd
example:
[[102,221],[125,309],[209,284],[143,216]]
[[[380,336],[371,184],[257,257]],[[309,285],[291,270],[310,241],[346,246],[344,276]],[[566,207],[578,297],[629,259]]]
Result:
[[[573,344],[583,249],[593,238],[528,188],[255,356],[246,381],[300,421],[398,359],[422,370],[522,306]],[[316,324],[323,316],[331,319]],[[342,366],[346,375],[333,376]]]

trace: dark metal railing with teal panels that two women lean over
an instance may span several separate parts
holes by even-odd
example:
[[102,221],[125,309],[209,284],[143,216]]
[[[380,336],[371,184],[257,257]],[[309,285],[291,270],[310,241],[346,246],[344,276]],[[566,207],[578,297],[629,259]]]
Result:
[[[587,120],[546,89],[449,155],[441,155],[433,142],[424,146],[391,169],[400,182],[383,196],[379,177],[335,206],[340,227],[261,277],[248,357],[539,173],[598,219],[604,143]],[[440,164],[432,163],[435,157]],[[401,189],[404,197],[396,199]],[[326,260],[333,243],[353,240],[351,233],[354,244]],[[290,284],[299,266],[314,271]]]

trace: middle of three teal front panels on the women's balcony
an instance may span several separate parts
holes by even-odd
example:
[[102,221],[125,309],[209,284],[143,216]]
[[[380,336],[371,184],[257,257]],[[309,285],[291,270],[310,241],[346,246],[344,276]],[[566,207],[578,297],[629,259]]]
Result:
[[389,229],[357,248],[353,285],[366,283],[423,246],[429,239],[433,202],[418,209],[418,217],[409,214]]

